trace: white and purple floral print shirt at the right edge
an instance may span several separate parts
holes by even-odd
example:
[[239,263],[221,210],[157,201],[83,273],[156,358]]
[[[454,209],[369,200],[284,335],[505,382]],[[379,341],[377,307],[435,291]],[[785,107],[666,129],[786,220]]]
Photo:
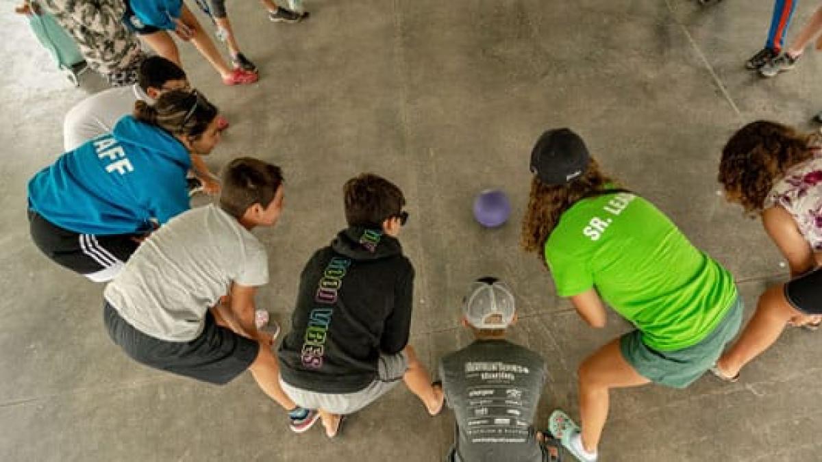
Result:
[[802,237],[815,252],[822,251],[822,151],[794,165],[771,188],[764,208],[783,206],[797,222]]

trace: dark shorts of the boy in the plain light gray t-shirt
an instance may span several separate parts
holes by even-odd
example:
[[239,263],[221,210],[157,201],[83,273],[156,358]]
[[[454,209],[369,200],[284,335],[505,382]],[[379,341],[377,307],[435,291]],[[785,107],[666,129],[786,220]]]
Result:
[[242,374],[260,350],[256,341],[217,326],[211,312],[205,314],[200,336],[190,342],[169,342],[145,335],[122,319],[108,302],[103,318],[111,340],[137,363],[218,385]]

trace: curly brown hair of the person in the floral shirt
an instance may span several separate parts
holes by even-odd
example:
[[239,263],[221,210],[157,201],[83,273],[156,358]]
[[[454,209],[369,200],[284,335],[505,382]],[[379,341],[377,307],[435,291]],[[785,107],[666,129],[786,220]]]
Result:
[[717,179],[728,201],[739,202],[747,213],[760,213],[774,182],[813,156],[809,147],[813,138],[766,120],[742,127],[727,141],[719,161]]

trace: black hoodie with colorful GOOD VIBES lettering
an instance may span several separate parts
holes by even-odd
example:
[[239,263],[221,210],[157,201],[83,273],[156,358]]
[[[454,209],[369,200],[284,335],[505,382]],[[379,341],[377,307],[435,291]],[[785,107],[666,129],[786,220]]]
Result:
[[335,394],[371,384],[380,354],[408,344],[413,276],[397,239],[372,229],[340,231],[300,275],[292,330],[279,347],[283,380]]

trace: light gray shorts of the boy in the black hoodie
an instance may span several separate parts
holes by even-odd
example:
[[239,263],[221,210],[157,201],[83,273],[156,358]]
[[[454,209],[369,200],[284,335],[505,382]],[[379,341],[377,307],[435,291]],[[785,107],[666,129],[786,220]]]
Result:
[[353,393],[318,393],[316,391],[302,390],[290,386],[279,377],[279,386],[283,388],[286,395],[299,406],[307,409],[322,409],[330,413],[349,414],[363,409],[368,404],[372,404],[377,398],[388,393],[399,381],[403,379],[405,371],[409,368],[409,359],[405,352],[394,355],[380,355],[377,367],[377,377],[363,390]]

